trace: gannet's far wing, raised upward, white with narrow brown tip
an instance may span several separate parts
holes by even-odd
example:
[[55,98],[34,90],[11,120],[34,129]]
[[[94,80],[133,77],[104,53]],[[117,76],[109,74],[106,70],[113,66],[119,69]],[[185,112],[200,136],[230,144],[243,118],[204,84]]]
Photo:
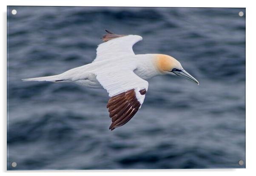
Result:
[[136,35],[118,35],[106,30],[107,34],[102,37],[105,43],[97,48],[97,56],[93,62],[120,58],[125,55],[134,56],[133,45],[142,40],[141,36]]

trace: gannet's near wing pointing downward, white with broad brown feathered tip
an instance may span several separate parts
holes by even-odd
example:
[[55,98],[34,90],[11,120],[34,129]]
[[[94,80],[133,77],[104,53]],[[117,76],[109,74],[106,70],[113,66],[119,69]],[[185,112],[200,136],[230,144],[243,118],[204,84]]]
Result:
[[[122,74],[120,74],[122,73]],[[148,82],[131,70],[97,74],[97,80],[109,93],[107,108],[112,124],[109,129],[126,124],[137,113],[148,91]]]

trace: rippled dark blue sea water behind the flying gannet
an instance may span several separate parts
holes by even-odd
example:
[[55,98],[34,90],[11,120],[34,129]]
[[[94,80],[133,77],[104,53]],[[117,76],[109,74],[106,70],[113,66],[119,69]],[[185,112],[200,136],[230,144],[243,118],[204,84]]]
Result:
[[[239,11],[9,6],[8,169],[245,168]],[[105,29],[142,36],[135,53],[171,55],[200,85],[154,77],[139,112],[110,131],[104,89],[21,81],[91,63]]]

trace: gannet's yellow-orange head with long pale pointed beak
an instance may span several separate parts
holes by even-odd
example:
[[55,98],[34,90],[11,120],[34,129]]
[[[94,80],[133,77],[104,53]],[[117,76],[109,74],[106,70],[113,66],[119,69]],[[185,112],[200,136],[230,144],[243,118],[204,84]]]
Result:
[[162,74],[173,74],[185,77],[186,79],[199,84],[199,82],[194,77],[192,77],[187,71],[182,68],[182,65],[179,63],[178,60],[169,55],[156,55],[156,64],[157,68]]

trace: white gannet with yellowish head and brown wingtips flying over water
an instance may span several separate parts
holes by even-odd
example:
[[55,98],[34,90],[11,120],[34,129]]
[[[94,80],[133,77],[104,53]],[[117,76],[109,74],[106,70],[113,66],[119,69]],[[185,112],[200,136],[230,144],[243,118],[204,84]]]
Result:
[[146,80],[171,74],[199,84],[178,60],[169,55],[135,55],[132,47],[142,40],[141,36],[106,32],[102,37],[104,43],[97,47],[97,56],[92,63],[62,74],[23,81],[74,82],[86,88],[104,88],[110,97],[107,108],[111,130],[126,124],[141,108],[148,91]]

